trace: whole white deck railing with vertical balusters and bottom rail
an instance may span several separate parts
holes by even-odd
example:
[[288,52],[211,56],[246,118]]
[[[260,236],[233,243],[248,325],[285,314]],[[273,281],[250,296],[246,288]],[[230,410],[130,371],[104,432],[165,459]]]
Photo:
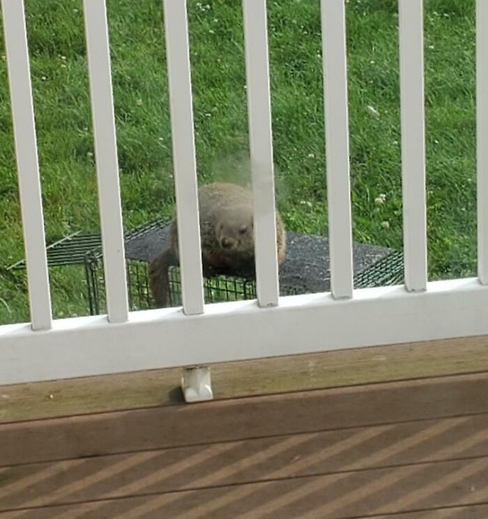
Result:
[[399,0],[405,286],[353,290],[344,0],[321,0],[331,292],[278,297],[266,1],[243,0],[257,301],[204,305],[188,30],[164,0],[181,308],[128,312],[104,0],[84,0],[107,316],[52,320],[22,0],[2,0],[31,324],[0,327],[0,384],[488,334],[488,1],[477,0],[479,279],[427,283],[422,0]]

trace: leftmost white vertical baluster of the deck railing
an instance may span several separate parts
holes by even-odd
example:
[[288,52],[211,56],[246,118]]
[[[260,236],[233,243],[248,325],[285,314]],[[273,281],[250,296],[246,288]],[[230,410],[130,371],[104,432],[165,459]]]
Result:
[[3,31],[24,227],[29,305],[34,330],[52,325],[43,201],[23,0],[2,0]]

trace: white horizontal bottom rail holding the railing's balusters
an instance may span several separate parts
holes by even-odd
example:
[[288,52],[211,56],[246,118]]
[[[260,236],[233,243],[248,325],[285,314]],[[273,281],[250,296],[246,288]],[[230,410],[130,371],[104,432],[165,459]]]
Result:
[[181,308],[56,320],[49,331],[0,327],[0,384],[325,352],[488,334],[488,287],[477,279],[436,281],[426,292],[403,286],[215,303],[204,315]]

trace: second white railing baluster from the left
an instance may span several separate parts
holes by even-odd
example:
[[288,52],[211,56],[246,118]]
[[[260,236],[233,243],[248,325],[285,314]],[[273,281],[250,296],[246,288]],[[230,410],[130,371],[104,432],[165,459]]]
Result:
[[110,322],[128,319],[119,163],[105,0],[84,0],[103,265]]

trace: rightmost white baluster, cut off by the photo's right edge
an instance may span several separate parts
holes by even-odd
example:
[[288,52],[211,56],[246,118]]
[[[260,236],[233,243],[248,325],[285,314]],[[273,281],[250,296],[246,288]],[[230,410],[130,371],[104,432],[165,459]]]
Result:
[[476,0],[478,278],[488,285],[488,2]]

